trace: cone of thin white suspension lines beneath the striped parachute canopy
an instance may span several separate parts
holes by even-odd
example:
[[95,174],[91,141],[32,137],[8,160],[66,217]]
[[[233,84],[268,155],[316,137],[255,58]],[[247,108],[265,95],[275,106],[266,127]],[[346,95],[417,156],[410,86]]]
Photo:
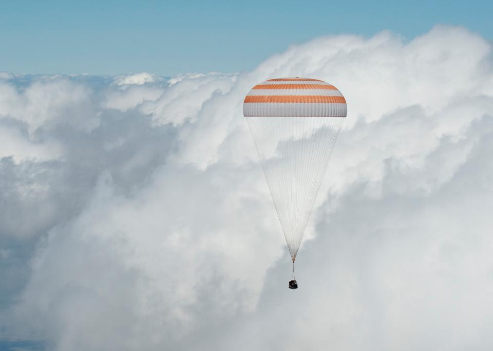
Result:
[[343,120],[247,117],[292,259],[296,258]]

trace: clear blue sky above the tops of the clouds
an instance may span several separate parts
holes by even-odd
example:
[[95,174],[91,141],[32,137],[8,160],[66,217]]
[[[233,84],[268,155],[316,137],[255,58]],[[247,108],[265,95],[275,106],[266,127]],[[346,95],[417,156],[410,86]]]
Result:
[[488,1],[12,1],[0,5],[0,71],[90,73],[251,70],[316,36],[407,39],[435,24],[493,39]]

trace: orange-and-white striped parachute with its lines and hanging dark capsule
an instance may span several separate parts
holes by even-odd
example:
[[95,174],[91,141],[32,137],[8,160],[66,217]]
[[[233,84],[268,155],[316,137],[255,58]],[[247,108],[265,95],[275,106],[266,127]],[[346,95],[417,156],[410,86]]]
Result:
[[296,289],[294,261],[347,115],[346,100],[318,79],[269,79],[250,90],[243,115],[291,253],[289,287]]

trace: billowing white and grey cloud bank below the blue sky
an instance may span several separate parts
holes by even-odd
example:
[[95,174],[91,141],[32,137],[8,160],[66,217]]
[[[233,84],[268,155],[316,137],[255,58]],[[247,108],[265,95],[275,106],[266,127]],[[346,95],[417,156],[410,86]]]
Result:
[[[294,292],[241,114],[253,85],[289,76],[333,83],[349,107]],[[235,75],[6,77],[4,335],[55,350],[493,346],[481,36],[327,36]]]

